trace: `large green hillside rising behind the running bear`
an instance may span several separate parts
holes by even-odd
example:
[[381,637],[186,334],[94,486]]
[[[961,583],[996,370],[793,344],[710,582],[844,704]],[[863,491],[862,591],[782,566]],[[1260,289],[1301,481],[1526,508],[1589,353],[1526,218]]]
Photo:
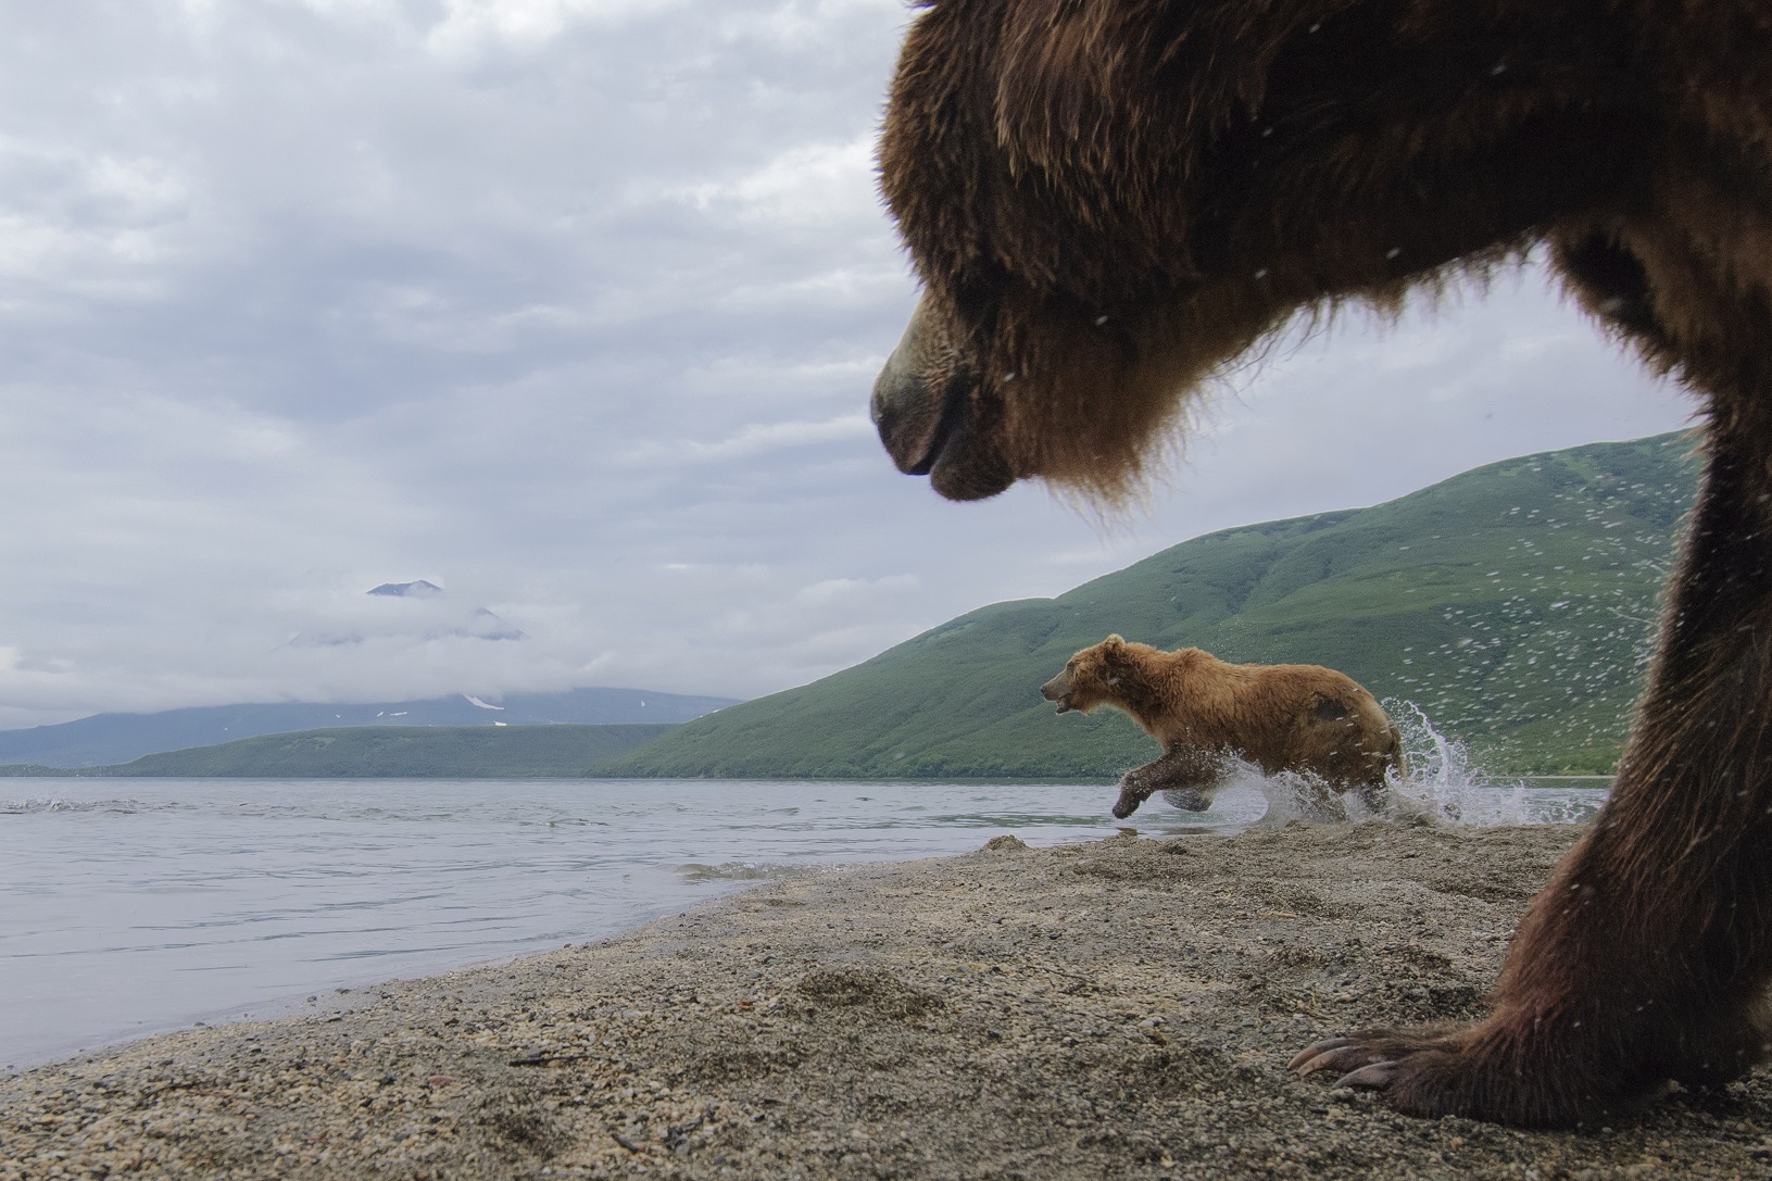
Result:
[[1690,450],[1689,434],[1595,443],[1196,537],[688,722],[599,773],[1111,778],[1155,745],[1118,713],[1060,718],[1038,695],[1109,631],[1341,669],[1497,773],[1611,771],[1696,489]]

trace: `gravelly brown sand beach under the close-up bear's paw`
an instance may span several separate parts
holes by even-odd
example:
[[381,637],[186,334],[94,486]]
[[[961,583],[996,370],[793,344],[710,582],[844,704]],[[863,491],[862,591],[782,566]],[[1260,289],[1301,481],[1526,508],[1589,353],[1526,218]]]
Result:
[[0,1080],[0,1177],[1767,1177],[1765,1073],[1611,1128],[1286,1060],[1480,1011],[1570,826],[1122,835],[806,874],[617,940]]

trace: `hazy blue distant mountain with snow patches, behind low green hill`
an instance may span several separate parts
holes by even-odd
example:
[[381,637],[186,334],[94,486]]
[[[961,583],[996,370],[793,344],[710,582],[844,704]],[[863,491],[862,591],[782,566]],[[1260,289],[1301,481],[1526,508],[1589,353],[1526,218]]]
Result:
[[209,747],[259,734],[351,725],[615,725],[689,722],[732,697],[686,697],[631,688],[576,688],[512,693],[482,700],[464,693],[367,706],[255,704],[197,706],[163,713],[99,713],[60,725],[0,731],[0,764],[46,768],[115,766],[147,754]]

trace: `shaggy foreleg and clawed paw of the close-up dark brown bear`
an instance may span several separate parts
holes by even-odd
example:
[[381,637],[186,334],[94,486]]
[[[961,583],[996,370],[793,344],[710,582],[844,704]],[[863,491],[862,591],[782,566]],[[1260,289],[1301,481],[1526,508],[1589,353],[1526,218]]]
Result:
[[[1719,424],[1728,426],[1728,424]],[[1496,1009],[1370,1028],[1294,1066],[1416,1115],[1597,1121],[1767,1053],[1772,982],[1772,472],[1712,429],[1705,488],[1618,784],[1533,899]]]

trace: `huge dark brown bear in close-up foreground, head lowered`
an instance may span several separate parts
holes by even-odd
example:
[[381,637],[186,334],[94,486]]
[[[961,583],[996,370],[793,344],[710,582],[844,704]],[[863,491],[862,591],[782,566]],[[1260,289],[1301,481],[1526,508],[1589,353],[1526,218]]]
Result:
[[1116,498],[1297,314],[1545,246],[1698,395],[1705,481],[1618,784],[1494,1013],[1299,1055],[1407,1112],[1595,1119],[1772,1036],[1772,7],[932,0],[881,140],[925,289],[875,387],[905,472]]

